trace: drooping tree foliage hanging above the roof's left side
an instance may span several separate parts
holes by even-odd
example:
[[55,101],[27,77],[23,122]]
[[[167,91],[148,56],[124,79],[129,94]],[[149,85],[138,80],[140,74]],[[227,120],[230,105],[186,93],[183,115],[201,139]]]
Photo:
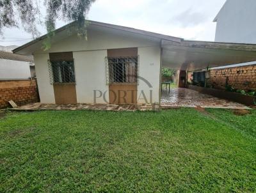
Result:
[[85,36],[85,17],[95,0],[43,0],[46,17],[42,17],[40,0],[0,0],[0,33],[3,27],[19,27],[21,21],[24,30],[33,38],[39,36],[36,25],[45,24],[48,37],[54,35],[56,19],[77,20],[77,34]]

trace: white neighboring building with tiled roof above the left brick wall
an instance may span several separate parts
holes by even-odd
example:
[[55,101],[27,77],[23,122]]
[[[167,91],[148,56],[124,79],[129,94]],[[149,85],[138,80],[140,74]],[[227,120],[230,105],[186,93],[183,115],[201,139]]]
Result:
[[0,50],[0,81],[35,77],[33,56],[22,56]]

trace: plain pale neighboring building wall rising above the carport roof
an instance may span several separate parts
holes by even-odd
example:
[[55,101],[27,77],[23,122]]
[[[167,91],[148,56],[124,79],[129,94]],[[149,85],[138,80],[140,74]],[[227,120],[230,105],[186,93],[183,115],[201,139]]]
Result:
[[215,42],[256,43],[255,10],[255,0],[227,0],[217,15]]

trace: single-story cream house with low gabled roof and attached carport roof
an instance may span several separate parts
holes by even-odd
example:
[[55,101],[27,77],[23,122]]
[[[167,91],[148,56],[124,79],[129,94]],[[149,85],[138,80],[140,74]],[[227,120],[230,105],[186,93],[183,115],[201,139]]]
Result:
[[161,101],[161,68],[187,71],[256,60],[256,45],[187,41],[130,27],[88,21],[87,38],[76,22],[14,49],[33,54],[43,104],[154,104]]

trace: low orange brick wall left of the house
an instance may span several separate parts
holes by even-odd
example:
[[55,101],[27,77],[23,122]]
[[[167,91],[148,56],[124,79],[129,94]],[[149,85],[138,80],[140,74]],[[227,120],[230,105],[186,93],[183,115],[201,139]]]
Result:
[[35,80],[0,81],[0,109],[10,107],[9,100],[17,105],[38,102]]

